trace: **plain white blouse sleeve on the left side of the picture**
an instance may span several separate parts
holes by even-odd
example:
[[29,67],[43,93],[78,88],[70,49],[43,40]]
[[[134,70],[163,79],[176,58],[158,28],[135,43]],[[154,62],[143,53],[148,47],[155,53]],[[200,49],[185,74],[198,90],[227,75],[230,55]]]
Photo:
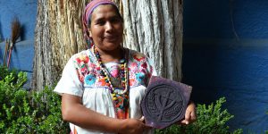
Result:
[[71,59],[65,65],[62,78],[54,88],[54,92],[60,95],[63,93],[74,96],[83,95],[83,86],[79,80],[79,75],[77,73],[75,63],[73,62],[73,57],[71,57]]

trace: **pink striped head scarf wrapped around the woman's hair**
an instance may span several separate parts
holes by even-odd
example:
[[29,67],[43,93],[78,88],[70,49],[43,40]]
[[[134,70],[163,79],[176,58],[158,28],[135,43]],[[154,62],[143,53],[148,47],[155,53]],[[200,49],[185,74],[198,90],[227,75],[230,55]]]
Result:
[[116,4],[114,4],[111,0],[93,0],[89,4],[87,4],[87,6],[85,7],[84,14],[82,16],[83,32],[84,32],[84,37],[90,46],[92,44],[90,43],[90,41],[92,40],[89,37],[89,33],[88,33],[89,16],[93,13],[94,9],[100,4],[113,4],[116,6]]

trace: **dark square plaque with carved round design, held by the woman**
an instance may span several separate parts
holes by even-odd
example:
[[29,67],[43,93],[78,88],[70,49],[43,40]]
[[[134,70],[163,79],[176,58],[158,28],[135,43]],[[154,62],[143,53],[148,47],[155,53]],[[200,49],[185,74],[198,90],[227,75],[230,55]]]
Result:
[[141,102],[147,126],[166,128],[184,118],[192,87],[152,76]]

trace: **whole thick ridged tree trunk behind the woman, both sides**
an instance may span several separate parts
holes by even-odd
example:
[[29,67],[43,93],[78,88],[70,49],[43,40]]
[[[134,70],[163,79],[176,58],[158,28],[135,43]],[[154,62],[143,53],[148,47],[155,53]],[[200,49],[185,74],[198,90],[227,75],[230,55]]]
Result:
[[[180,80],[182,2],[114,0],[124,18],[123,46],[147,54],[160,76]],[[72,54],[86,48],[81,15],[88,0],[39,0],[32,88],[60,79]]]

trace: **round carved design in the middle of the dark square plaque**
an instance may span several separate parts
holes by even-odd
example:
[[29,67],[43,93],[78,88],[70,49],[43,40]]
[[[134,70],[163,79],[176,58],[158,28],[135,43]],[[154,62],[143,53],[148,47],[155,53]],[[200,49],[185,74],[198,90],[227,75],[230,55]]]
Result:
[[180,92],[168,85],[152,88],[146,96],[147,113],[157,122],[176,120],[183,110],[183,97]]

